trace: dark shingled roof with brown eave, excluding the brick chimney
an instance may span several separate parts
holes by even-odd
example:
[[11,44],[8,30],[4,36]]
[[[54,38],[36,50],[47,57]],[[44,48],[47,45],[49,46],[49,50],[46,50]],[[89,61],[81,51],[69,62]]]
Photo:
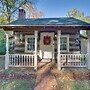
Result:
[[6,31],[90,30],[90,23],[86,23],[73,17],[32,18],[18,19],[10,24],[0,25],[0,28],[3,28]]

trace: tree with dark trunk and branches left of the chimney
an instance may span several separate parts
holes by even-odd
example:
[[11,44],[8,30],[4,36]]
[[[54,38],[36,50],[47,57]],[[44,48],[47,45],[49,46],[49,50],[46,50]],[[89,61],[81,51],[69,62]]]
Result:
[[36,0],[0,0],[0,13],[10,23],[15,12],[26,3],[34,3]]

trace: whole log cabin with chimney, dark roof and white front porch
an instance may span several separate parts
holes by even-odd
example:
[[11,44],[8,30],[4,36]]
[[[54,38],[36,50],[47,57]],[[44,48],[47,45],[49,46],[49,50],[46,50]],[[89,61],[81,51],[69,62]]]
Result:
[[[62,67],[90,69],[90,23],[73,17],[27,19],[25,16],[24,9],[19,9],[18,20],[0,25],[6,32],[5,69],[37,70],[38,62],[54,60],[59,70]],[[87,31],[86,45],[81,30]]]

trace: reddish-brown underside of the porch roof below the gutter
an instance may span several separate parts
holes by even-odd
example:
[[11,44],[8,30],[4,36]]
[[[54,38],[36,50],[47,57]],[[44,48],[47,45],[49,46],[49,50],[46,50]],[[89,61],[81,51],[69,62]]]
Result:
[[76,26],[76,25],[64,25],[64,26],[24,26],[24,25],[3,25],[0,26],[0,28],[3,28],[5,31],[45,31],[45,30],[90,30],[89,25],[82,25],[82,26]]

